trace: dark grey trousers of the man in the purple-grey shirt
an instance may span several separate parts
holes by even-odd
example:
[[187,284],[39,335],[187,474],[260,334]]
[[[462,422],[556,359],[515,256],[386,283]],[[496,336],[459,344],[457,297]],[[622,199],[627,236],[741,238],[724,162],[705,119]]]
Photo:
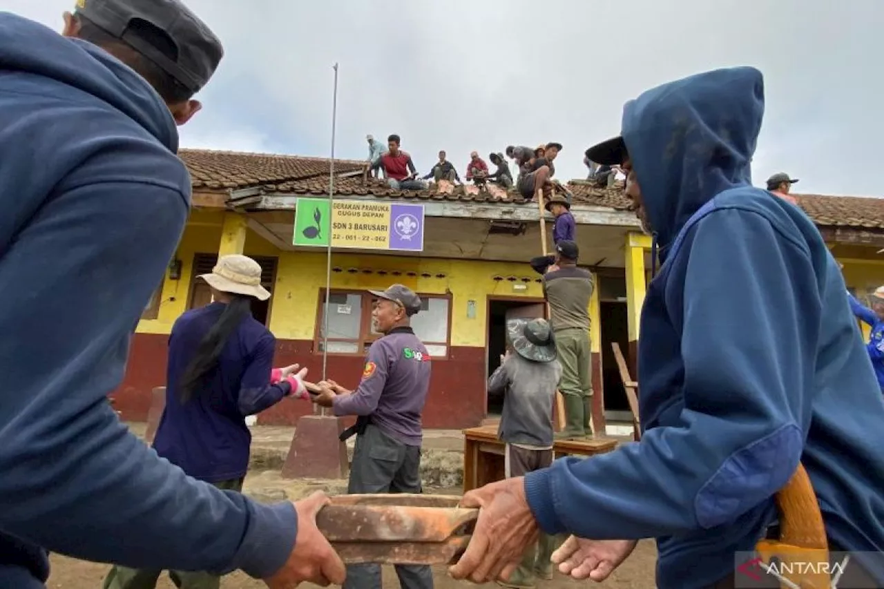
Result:
[[[421,448],[406,446],[369,425],[356,438],[347,493],[421,493]],[[428,566],[397,564],[402,589],[432,589]],[[343,589],[381,589],[378,564],[347,566]]]

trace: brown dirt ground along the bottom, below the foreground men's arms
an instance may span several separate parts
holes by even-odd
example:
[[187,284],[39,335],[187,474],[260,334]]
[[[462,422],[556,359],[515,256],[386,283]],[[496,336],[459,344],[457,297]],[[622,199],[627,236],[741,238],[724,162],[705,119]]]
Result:
[[[557,576],[552,581],[542,581],[538,589],[569,589],[577,586],[591,585],[599,589],[651,589],[654,586],[654,562],[657,559],[653,543],[645,540],[641,542],[636,551],[629,559],[615,570],[612,577],[605,583],[594,584],[589,581],[577,582],[569,578]],[[52,555],[52,574],[46,584],[49,589],[101,589],[102,581],[109,567],[106,564],[95,564],[66,558],[65,556]],[[437,589],[453,589],[453,587],[468,585],[455,581],[448,577],[444,567],[435,568]],[[301,585],[302,587],[314,587],[316,585]],[[384,586],[394,589],[399,586],[396,574],[390,568],[384,571]],[[474,586],[474,585],[471,585]],[[496,587],[497,585],[483,585]],[[260,581],[248,578],[242,573],[233,573],[221,581],[221,589],[266,589]],[[156,589],[175,589],[169,578],[165,575],[160,578]]]

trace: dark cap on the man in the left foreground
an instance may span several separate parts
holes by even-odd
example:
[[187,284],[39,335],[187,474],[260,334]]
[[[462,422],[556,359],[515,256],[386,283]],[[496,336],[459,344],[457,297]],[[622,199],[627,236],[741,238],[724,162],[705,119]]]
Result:
[[[76,13],[147,57],[194,94],[224,57],[215,34],[179,0],[77,0]],[[164,48],[138,34],[133,25],[139,21],[163,31],[177,57],[169,57]]]

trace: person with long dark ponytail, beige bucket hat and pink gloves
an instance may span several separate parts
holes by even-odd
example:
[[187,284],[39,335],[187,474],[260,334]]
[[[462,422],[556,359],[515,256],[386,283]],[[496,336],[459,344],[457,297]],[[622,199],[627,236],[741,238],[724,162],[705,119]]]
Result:
[[[202,274],[212,302],[187,311],[169,336],[166,402],[156,429],[156,454],[193,478],[240,491],[252,436],[246,417],[288,396],[309,398],[307,369],[272,370],[276,339],[252,317],[253,300],[271,294],[261,286],[261,266],[250,257],[222,256]],[[104,589],[153,589],[160,570],[115,566]],[[217,589],[209,572],[169,572],[181,589]]]

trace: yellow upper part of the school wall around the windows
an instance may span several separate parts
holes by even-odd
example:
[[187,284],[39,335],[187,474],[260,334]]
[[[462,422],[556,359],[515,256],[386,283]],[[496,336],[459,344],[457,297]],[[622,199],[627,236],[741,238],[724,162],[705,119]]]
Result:
[[[194,222],[188,224],[181,240],[177,257],[182,263],[179,280],[164,280],[162,300],[158,317],[142,320],[137,333],[170,333],[175,319],[187,308],[187,295],[192,275],[194,254],[217,252],[222,242],[224,216],[199,215],[194,212]],[[229,224],[228,224],[229,225]],[[319,304],[320,289],[325,286],[326,260],[324,249],[316,252],[284,252],[259,235],[248,232],[244,244],[247,256],[277,256],[277,281],[271,299],[271,332],[278,339],[312,340],[316,330],[316,310]],[[487,316],[487,297],[498,295],[507,297],[542,298],[538,278],[530,265],[515,263],[479,262],[471,260],[440,260],[419,257],[377,256],[369,254],[335,253],[332,266],[345,272],[331,273],[331,287],[361,290],[385,288],[400,282],[417,293],[427,295],[452,295],[451,345],[484,348]],[[349,273],[348,269],[384,270],[386,275],[377,273]],[[389,272],[401,272],[392,276]],[[410,277],[408,272],[417,276]],[[430,274],[424,278],[421,274]],[[437,274],[445,275],[436,278]],[[514,276],[519,280],[495,280]],[[522,278],[531,281],[525,283]],[[514,284],[525,285],[525,290],[515,290]],[[475,313],[469,317],[468,305],[475,302]],[[596,305],[598,307],[598,305]],[[598,317],[598,310],[593,319]],[[593,321],[593,329],[598,329],[598,321]]]

